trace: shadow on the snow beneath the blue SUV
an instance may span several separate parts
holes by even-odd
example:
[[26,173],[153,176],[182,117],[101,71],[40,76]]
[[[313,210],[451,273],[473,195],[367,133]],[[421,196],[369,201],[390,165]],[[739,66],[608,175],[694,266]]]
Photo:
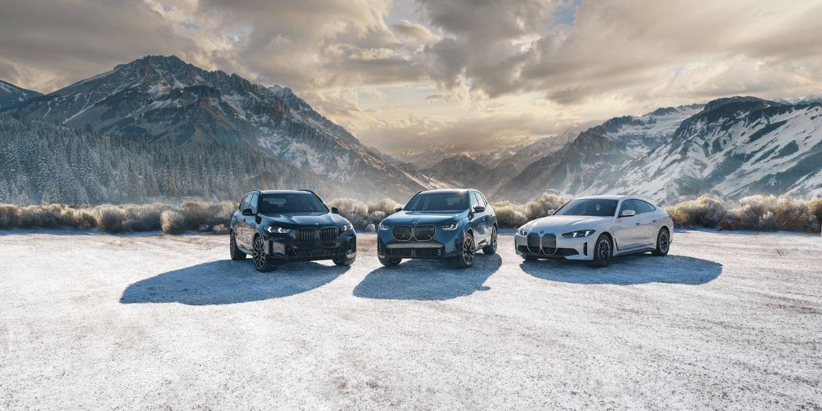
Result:
[[478,254],[467,269],[455,268],[444,260],[406,260],[368,273],[353,294],[375,299],[447,300],[488,290],[483,286],[485,280],[501,265],[498,254]]

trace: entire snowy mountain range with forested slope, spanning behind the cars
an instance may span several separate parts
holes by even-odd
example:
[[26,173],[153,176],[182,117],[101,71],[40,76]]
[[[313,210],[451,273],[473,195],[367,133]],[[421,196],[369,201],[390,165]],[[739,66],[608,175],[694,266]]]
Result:
[[[660,202],[700,194],[822,195],[819,96],[716,99],[482,154],[434,149],[399,159],[363,145],[288,88],[208,72],[173,56],[141,58],[48,95],[0,82],[0,112],[0,182],[7,182],[0,202],[234,198],[252,187],[398,201],[436,187],[476,187],[492,200],[514,201],[547,190]],[[176,159],[158,157],[158,147]],[[77,153],[95,151],[106,160],[89,169]],[[229,172],[210,164],[232,160],[254,167],[235,164]],[[175,167],[187,168],[187,188],[165,183]],[[166,177],[145,191],[132,187],[152,180],[155,169]],[[62,177],[49,182],[55,173]],[[207,185],[198,187],[197,173]],[[118,188],[123,184],[130,188]]]

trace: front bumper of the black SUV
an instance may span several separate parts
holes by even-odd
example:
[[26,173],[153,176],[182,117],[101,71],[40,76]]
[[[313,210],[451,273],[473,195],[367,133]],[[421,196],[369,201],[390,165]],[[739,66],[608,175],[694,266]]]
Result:
[[301,241],[288,234],[273,233],[266,238],[270,261],[316,261],[351,258],[357,255],[357,234],[353,230],[339,234],[333,241]]

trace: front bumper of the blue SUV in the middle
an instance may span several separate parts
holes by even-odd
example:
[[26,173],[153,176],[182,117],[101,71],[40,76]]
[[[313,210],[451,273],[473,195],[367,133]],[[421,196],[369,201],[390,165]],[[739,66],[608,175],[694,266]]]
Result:
[[462,252],[463,232],[437,229],[428,241],[399,241],[391,230],[381,230],[376,236],[376,254],[381,258],[449,258]]

